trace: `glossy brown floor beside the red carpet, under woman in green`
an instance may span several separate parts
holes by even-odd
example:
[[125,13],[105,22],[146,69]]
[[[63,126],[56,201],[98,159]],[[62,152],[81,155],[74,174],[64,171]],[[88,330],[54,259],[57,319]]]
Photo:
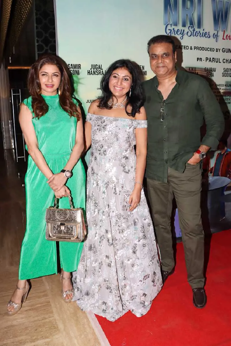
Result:
[[[22,160],[22,159],[20,159]],[[100,346],[94,329],[75,302],[61,298],[59,275],[31,280],[21,310],[7,314],[18,279],[25,230],[25,191],[10,151],[0,152],[0,346]]]

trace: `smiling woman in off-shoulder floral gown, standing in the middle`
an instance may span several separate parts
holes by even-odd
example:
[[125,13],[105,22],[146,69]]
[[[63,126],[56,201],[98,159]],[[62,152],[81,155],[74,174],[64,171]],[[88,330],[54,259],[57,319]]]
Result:
[[[88,236],[73,300],[84,311],[115,321],[128,310],[145,315],[162,287],[153,224],[142,181],[147,120],[136,67],[114,62],[85,124]],[[136,151],[134,146],[136,145]]]

